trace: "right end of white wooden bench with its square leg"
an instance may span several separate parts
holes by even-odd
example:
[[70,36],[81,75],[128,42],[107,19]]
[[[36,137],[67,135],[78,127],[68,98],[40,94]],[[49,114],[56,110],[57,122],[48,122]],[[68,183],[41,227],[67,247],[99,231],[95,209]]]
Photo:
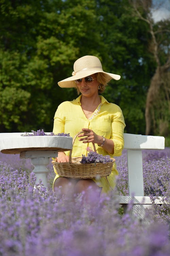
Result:
[[[144,197],[142,150],[163,150],[165,138],[124,133],[124,148],[128,158],[129,196],[119,196],[119,203],[126,211],[128,203],[133,200],[132,217],[145,219],[145,209],[152,206],[152,201],[149,196]],[[155,203],[162,204],[162,198],[155,200]]]

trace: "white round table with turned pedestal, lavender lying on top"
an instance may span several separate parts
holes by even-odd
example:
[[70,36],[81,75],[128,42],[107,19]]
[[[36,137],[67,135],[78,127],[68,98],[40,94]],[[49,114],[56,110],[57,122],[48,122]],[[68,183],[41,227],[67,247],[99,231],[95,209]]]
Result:
[[72,149],[72,138],[65,136],[21,136],[23,133],[0,133],[0,151],[31,158],[37,182],[41,179],[47,187],[47,165],[58,151]]

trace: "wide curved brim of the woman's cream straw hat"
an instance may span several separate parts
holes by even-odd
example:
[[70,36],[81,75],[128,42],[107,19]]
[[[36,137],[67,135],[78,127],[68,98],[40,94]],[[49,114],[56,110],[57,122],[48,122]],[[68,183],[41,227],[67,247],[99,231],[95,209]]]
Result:
[[70,77],[58,82],[58,85],[62,88],[77,87],[76,83],[74,82],[75,80],[95,74],[95,73],[103,73],[105,75],[106,83],[108,83],[112,79],[114,79],[114,80],[120,79],[120,75],[107,73],[107,72],[101,71],[101,69],[100,70],[83,70],[83,71],[79,71],[77,74],[75,74],[73,76],[70,76]]

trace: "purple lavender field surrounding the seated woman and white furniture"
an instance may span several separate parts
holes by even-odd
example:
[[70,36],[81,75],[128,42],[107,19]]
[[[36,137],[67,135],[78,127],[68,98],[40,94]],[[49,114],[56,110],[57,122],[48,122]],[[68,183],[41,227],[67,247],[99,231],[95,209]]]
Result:
[[[97,202],[83,194],[62,197],[52,191],[54,172],[48,166],[48,190],[35,184],[33,166],[19,155],[0,153],[0,255],[2,256],[169,256],[170,148],[145,151],[145,195],[165,203],[147,212],[149,225],[121,214],[116,195],[128,195],[126,151],[116,158],[115,191]],[[92,205],[92,206],[91,206]]]

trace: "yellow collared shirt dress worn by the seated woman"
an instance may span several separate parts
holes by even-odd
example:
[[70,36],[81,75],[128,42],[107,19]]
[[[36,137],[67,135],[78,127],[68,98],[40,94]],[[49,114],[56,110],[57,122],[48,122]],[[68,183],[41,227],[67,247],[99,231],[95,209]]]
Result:
[[[96,146],[96,151],[102,155],[110,155],[111,157],[120,156],[124,146],[123,132],[124,132],[124,117],[120,107],[114,103],[109,103],[103,96],[100,96],[101,104],[97,107],[92,116],[87,119],[81,108],[81,95],[72,101],[65,101],[61,103],[54,115],[53,132],[57,133],[70,133],[74,137],[82,128],[93,130],[96,134],[104,136],[107,139],[114,141],[115,148],[114,154],[108,154],[102,147]],[[72,157],[79,157],[87,155],[87,147],[92,147],[92,143],[82,143],[79,139],[75,139]],[[93,147],[92,147],[93,148]],[[69,151],[65,152],[69,155]],[[54,169],[55,171],[55,169]],[[58,174],[54,181],[57,179]],[[114,164],[113,170],[109,176],[101,177],[99,180],[94,181],[98,186],[102,187],[102,192],[107,193],[111,188],[115,187],[115,177],[118,175],[116,165]]]

